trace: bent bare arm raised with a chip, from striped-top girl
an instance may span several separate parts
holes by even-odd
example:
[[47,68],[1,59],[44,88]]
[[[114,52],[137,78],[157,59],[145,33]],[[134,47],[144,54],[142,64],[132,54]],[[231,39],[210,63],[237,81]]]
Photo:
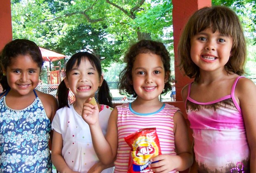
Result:
[[[117,136],[117,109],[111,112],[108,122],[106,137],[102,133],[99,123],[98,106],[92,106],[89,103],[84,103],[82,117],[90,126],[92,143],[97,157],[103,164],[111,164],[117,153],[118,136]],[[106,157],[107,156],[107,157]]]

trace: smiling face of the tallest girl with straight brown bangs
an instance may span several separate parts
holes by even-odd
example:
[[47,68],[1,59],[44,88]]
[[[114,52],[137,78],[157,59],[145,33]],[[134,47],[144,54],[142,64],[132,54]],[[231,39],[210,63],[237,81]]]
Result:
[[190,55],[192,61],[202,71],[224,70],[224,65],[232,56],[232,37],[207,28],[191,38]]

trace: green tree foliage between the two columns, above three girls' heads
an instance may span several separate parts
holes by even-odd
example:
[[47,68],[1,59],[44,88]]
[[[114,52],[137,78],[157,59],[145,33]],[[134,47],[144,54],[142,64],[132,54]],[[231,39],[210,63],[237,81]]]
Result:
[[[172,42],[171,0],[12,0],[13,37],[62,54],[90,51],[104,67],[121,62],[130,43]],[[171,41],[170,41],[171,40]]]

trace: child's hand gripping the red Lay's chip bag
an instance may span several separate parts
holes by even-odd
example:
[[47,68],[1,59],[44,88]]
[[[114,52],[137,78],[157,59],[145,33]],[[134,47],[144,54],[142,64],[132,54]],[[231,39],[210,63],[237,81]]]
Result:
[[154,173],[168,173],[178,167],[178,157],[177,155],[171,154],[158,155],[150,160],[152,162],[158,162],[150,164],[149,168],[151,168],[151,171]]

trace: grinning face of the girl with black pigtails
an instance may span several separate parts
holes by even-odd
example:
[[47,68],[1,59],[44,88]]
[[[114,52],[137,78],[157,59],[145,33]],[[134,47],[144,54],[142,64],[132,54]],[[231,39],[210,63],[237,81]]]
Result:
[[87,57],[77,62],[65,78],[67,88],[70,88],[76,99],[87,99],[95,96],[98,87],[101,86],[103,77],[99,78],[99,73],[92,66]]

